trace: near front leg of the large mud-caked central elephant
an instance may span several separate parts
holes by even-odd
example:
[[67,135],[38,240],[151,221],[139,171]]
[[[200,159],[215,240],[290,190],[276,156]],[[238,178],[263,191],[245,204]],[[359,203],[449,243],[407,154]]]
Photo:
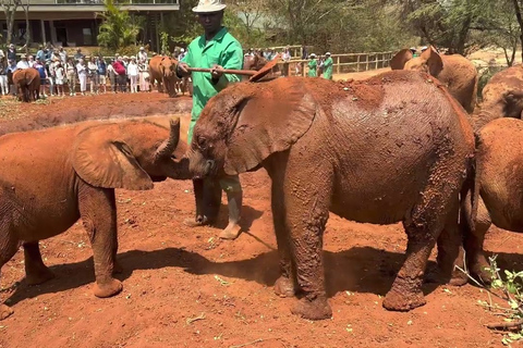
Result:
[[[299,177],[292,177],[289,173],[296,173]],[[325,171],[321,172],[324,173]],[[332,316],[325,290],[323,259],[323,237],[329,217],[332,177],[327,174],[316,181],[314,178],[314,172],[292,172],[288,169],[283,201],[291,260],[295,266],[296,283],[303,293],[291,312],[305,319],[321,320]],[[311,182],[317,185],[311,187],[306,184]],[[280,237],[282,244],[283,238],[284,236]],[[284,249],[281,253],[284,254]],[[288,266],[284,259],[282,263]]]

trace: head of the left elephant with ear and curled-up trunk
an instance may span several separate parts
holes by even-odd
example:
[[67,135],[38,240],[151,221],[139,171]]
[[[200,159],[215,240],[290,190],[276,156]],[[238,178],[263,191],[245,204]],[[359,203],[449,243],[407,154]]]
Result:
[[72,162],[95,187],[143,190],[167,177],[190,178],[186,148],[178,146],[180,119],[99,123],[78,133]]

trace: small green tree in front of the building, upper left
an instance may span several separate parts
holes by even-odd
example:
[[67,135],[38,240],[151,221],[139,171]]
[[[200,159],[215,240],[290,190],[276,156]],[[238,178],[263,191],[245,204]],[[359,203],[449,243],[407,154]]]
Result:
[[109,49],[119,49],[136,44],[141,25],[114,3],[114,0],[104,1],[105,11],[97,13],[102,18],[99,26],[98,44]]

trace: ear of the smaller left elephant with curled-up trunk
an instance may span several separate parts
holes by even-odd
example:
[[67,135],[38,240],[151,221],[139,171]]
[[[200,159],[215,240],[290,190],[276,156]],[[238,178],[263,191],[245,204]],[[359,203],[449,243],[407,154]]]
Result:
[[151,189],[151,178],[121,139],[123,132],[119,124],[82,130],[73,148],[73,167],[84,182],[95,187]]

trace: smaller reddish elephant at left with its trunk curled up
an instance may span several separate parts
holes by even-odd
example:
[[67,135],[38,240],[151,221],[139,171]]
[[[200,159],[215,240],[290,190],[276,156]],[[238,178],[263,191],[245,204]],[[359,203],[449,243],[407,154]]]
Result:
[[[121,291],[112,277],[114,188],[145,190],[167,177],[188,178],[186,141],[179,146],[179,139],[180,119],[168,116],[88,121],[0,137],[0,268],[23,245],[27,283],[50,279],[38,240],[82,217],[93,245],[95,295]],[[0,320],[11,313],[0,302]]]

